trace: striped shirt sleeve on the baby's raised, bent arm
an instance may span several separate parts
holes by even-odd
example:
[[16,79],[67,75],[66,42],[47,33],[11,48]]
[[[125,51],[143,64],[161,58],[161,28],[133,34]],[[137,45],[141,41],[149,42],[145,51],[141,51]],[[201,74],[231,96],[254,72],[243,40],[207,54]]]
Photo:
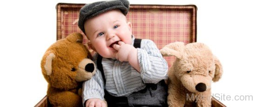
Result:
[[152,40],[141,40],[138,49],[138,60],[141,67],[141,78],[144,83],[158,83],[168,78],[168,64]]

